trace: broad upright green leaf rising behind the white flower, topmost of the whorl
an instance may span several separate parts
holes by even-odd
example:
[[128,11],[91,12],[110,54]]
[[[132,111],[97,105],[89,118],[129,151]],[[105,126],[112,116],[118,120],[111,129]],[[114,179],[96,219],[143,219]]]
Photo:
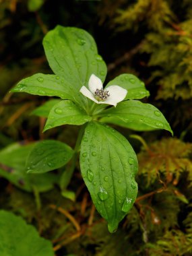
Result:
[[57,26],[44,36],[43,46],[53,72],[78,92],[92,73],[104,81],[106,64],[98,55],[94,38],[85,30]]

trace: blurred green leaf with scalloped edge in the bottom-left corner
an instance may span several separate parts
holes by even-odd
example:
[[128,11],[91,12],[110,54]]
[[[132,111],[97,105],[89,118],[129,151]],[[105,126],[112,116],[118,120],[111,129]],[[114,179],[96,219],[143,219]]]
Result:
[[54,256],[51,242],[11,212],[0,211],[0,237],[1,256]]

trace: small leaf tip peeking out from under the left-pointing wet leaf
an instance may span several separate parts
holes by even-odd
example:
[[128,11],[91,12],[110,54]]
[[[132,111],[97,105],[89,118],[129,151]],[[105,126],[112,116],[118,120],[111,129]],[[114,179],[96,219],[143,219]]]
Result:
[[31,114],[36,115],[38,117],[48,117],[51,108],[53,108],[53,106],[59,103],[60,101],[61,100],[57,99],[48,100],[42,106],[38,106],[38,108],[35,108]]

